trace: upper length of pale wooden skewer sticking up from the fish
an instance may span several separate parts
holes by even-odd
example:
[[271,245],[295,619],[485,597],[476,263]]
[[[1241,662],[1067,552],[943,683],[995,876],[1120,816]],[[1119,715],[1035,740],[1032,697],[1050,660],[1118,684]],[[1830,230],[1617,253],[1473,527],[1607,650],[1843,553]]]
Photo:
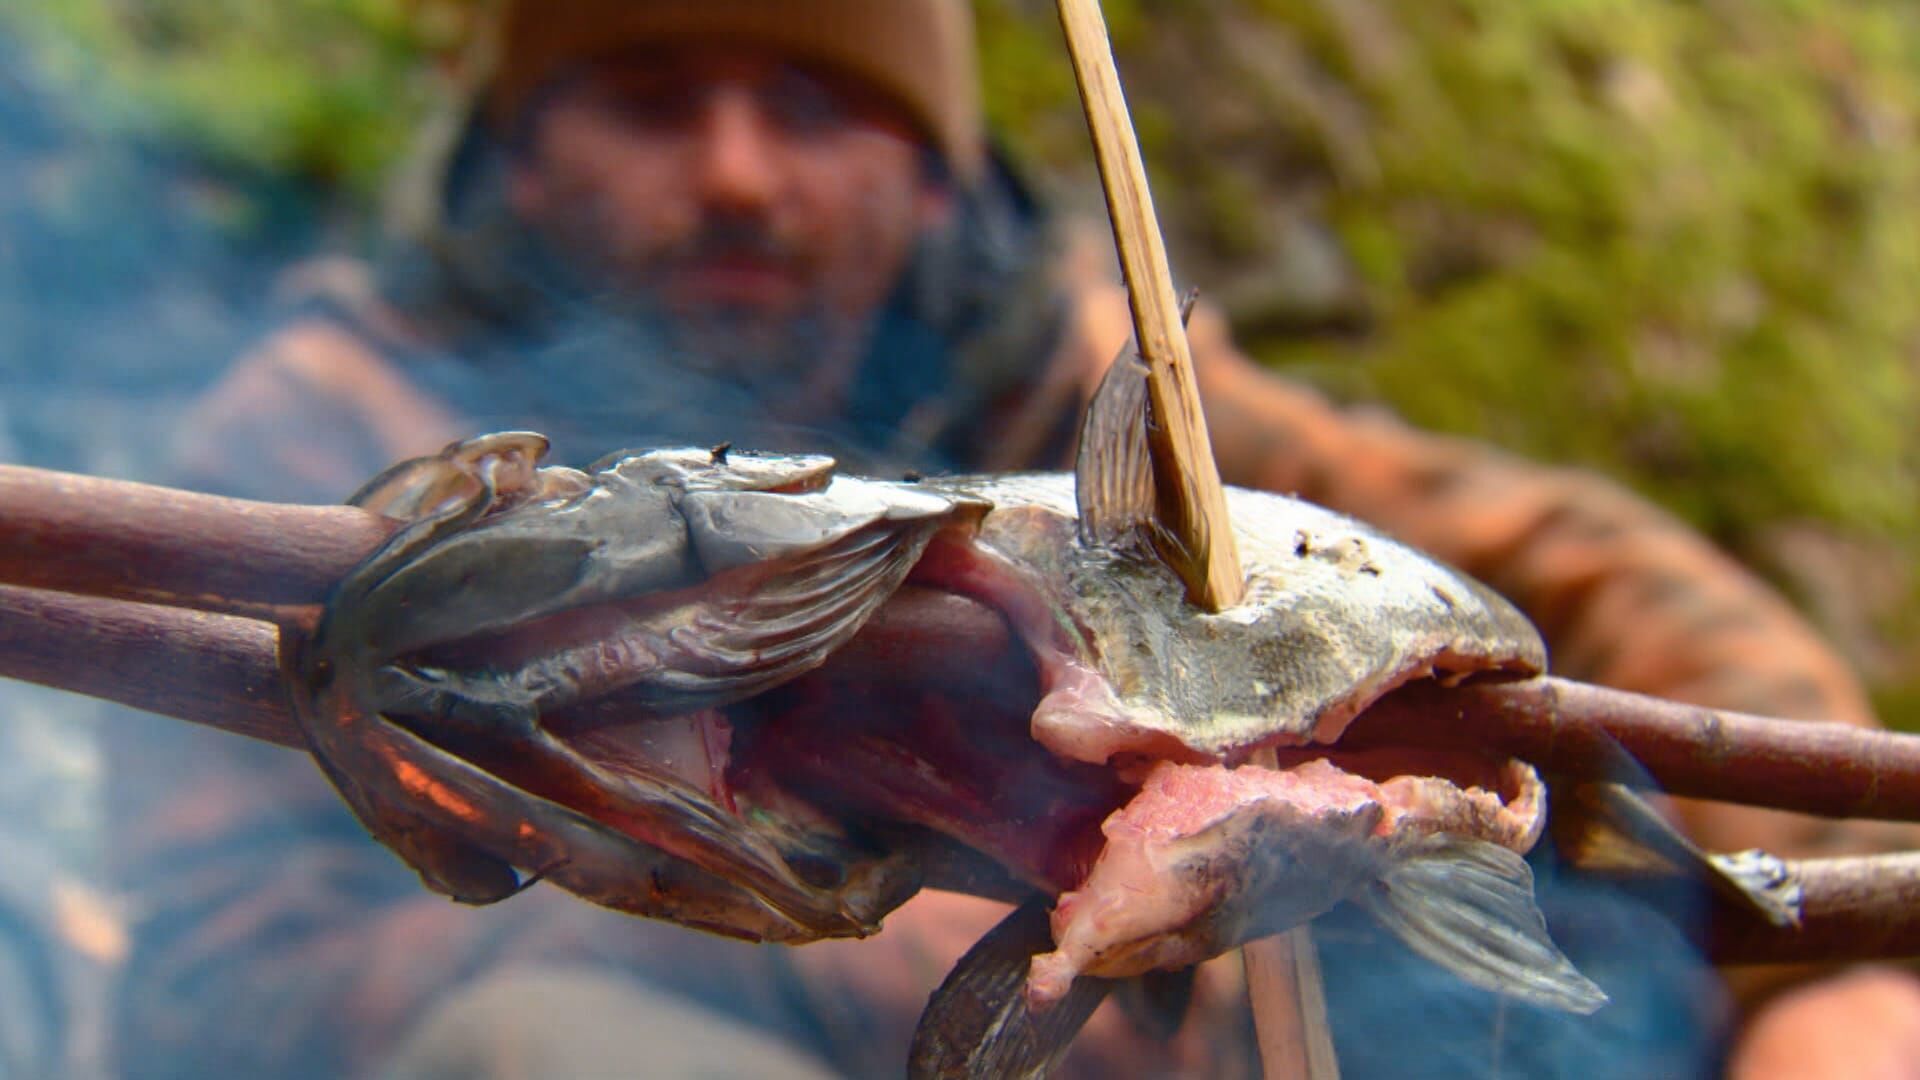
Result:
[[1154,215],[1154,196],[1146,186],[1140,144],[1127,115],[1127,96],[1119,88],[1119,69],[1114,65],[1114,46],[1098,0],[1060,0],[1060,27],[1087,106],[1119,269],[1127,277],[1133,332],[1146,361],[1148,396],[1158,421],[1148,429],[1148,440],[1154,444],[1154,473],[1160,480],[1160,525],[1190,557],[1187,565],[1175,565],[1187,580],[1188,598],[1208,611],[1219,611],[1238,603],[1244,592],[1240,552],[1227,521],[1227,492],[1208,442],[1192,350],[1181,325],[1173,271]]

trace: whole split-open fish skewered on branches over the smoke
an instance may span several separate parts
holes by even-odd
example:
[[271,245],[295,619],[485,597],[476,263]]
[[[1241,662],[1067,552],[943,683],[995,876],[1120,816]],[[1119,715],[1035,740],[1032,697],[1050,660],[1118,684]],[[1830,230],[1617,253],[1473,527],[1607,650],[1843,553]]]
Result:
[[[1238,488],[1244,600],[1192,607],[1144,402],[1116,363],[1071,475],[874,480],[728,448],[574,471],[536,467],[530,434],[403,463],[359,503],[409,525],[288,657],[301,728],[369,832],[468,903],[551,882],[803,944],[950,888],[1020,903],[1031,944],[1039,899],[1046,947],[979,949],[924,1022],[1018,988],[922,1040],[1016,1072],[1100,986],[1340,903],[1473,986],[1599,1009],[1534,903],[1536,771],[1338,746],[1407,682],[1538,675],[1534,626],[1367,525]],[[908,590],[1018,648],[837,669]]]

